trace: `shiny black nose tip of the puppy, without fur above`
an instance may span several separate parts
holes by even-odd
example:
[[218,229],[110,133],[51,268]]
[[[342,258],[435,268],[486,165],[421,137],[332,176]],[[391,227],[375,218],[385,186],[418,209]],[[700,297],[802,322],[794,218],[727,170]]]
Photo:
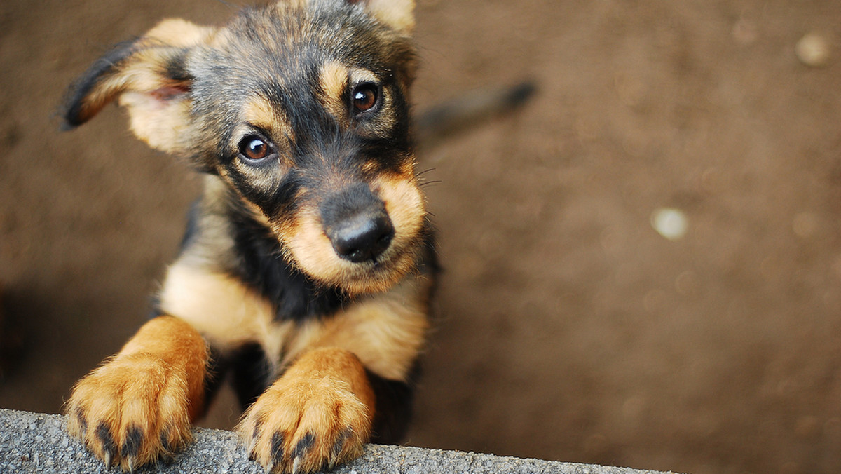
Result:
[[389,248],[394,226],[384,212],[363,212],[327,232],[339,257],[358,264],[377,258]]

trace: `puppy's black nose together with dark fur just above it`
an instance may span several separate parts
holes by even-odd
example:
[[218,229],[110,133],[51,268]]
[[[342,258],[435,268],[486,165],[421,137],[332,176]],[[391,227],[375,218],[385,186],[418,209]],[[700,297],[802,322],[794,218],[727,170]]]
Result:
[[336,254],[355,264],[376,260],[394,238],[385,205],[368,186],[354,186],[325,200],[321,219]]

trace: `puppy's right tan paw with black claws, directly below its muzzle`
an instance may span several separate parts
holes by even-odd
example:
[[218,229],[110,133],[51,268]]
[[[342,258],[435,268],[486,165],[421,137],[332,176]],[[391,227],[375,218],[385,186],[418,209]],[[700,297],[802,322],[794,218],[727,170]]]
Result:
[[360,395],[329,373],[287,373],[249,408],[238,430],[251,460],[267,471],[332,468],[361,455],[370,437],[370,395]]

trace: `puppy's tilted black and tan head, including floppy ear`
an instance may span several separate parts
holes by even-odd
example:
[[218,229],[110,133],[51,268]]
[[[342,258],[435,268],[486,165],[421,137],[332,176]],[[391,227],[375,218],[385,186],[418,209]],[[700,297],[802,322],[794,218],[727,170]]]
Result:
[[224,28],[166,20],[77,83],[151,146],[217,175],[290,264],[349,294],[415,266],[426,228],[409,133],[410,0],[288,0]]

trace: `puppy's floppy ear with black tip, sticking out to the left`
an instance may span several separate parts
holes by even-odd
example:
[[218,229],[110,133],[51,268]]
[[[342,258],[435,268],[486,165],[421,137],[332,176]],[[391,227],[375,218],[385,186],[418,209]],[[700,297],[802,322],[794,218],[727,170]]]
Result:
[[63,114],[66,128],[82,125],[118,100],[141,140],[163,152],[181,150],[193,81],[185,60],[190,48],[209,40],[214,31],[167,19],[146,35],[117,45],[71,86]]

